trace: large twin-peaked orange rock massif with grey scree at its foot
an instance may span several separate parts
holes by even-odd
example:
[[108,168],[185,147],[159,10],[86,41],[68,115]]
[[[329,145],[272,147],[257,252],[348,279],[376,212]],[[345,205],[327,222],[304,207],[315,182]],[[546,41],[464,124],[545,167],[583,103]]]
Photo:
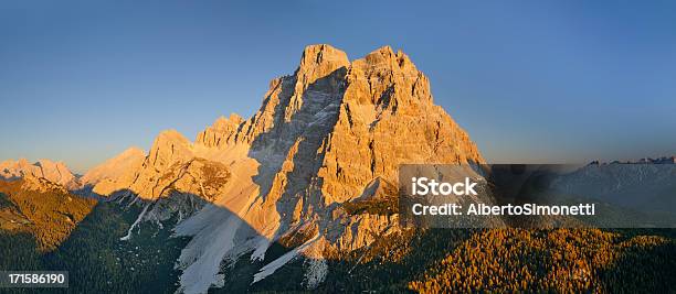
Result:
[[316,284],[324,252],[399,230],[395,214],[347,209],[390,198],[399,164],[483,162],[409,56],[384,46],[350,62],[310,45],[293,75],[271,81],[253,117],[219,118],[194,143],[162,132],[139,166],[94,189],[145,203],[142,220],[178,214],[176,235],[193,237],[178,263],[180,290],[203,293],[223,282],[222,263],[263,260],[272,242],[294,249],[254,282],[305,255]]

